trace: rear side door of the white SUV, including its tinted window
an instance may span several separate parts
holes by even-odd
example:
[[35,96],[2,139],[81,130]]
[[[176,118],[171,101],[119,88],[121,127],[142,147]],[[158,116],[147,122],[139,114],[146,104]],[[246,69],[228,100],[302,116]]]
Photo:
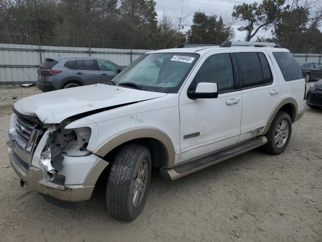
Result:
[[267,120],[280,101],[279,82],[266,52],[242,50],[235,53],[240,89],[243,94],[243,114],[239,142],[261,135]]

